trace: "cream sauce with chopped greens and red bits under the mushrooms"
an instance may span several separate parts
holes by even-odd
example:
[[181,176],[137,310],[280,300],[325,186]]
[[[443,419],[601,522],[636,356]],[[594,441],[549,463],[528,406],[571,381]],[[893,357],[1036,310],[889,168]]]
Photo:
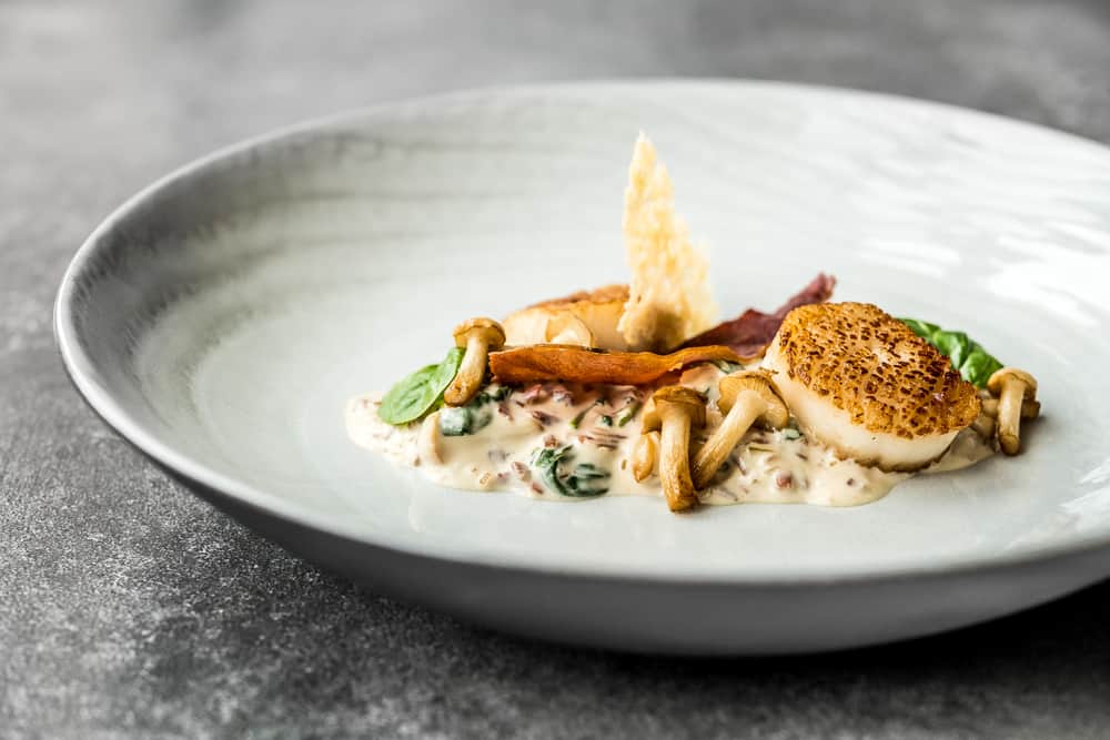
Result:
[[[720,424],[716,388],[724,374],[703,365],[680,378],[709,399],[695,446]],[[558,500],[579,500],[593,497],[584,493],[603,489],[610,496],[663,496],[656,475],[643,483],[632,475],[639,409],[648,391],[543,383],[518,389],[492,385],[483,392],[484,403],[444,408],[405,427],[379,418],[380,396],[359,396],[346,408],[347,433],[355,444],[453,488],[515,490]],[[978,434],[965,429],[924,473],[968,467],[993,453]],[[708,505],[858,506],[881,498],[910,475],[839,459],[794,428],[750,429],[698,497]]]

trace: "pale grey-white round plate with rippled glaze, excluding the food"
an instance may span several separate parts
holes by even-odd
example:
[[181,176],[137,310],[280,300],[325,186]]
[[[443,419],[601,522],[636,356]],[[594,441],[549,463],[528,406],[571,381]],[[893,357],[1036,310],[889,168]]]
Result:
[[[437,488],[342,409],[460,317],[624,278],[640,129],[726,313],[818,270],[1041,381],[1016,459],[856,509],[544,504]],[[1110,151],[941,105],[654,82],[396,103],[248,142],[134,197],[57,310],[78,387],[201,495],[383,591],[494,627],[690,653],[949,629],[1110,572]]]

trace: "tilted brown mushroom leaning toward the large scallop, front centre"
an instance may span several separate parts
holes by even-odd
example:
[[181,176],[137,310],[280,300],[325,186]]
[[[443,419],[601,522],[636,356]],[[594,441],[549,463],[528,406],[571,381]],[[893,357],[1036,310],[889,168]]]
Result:
[[780,429],[790,420],[790,413],[779,397],[766,371],[740,371],[726,375],[717,384],[720,398],[717,408],[725,419],[702,445],[694,457],[694,486],[700,490],[739,444],[744,433],[755,423]]

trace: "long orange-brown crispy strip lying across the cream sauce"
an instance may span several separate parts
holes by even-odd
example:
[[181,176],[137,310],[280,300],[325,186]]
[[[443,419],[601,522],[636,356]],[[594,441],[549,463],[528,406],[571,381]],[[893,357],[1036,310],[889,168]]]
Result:
[[567,344],[532,344],[490,353],[490,369],[501,383],[567,381],[646,385],[695,363],[739,362],[728,347],[703,346],[669,355],[652,352],[604,352]]

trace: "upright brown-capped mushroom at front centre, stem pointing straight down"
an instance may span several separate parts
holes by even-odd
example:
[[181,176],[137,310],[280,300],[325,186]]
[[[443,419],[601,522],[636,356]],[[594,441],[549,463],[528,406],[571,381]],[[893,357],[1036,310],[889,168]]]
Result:
[[672,511],[697,504],[690,480],[690,429],[705,426],[702,394],[683,385],[668,385],[652,396],[653,408],[644,413],[643,434],[659,432],[659,478]]

